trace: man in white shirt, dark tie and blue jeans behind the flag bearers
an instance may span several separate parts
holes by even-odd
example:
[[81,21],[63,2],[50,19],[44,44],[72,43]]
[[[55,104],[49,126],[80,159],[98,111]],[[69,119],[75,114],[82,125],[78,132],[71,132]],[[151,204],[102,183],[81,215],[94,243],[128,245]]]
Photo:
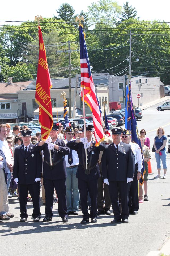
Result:
[[[73,127],[66,127],[65,129],[66,141],[72,141],[74,133]],[[66,199],[67,199],[67,214],[78,215],[79,214],[79,189],[78,179],[76,178],[77,167],[79,164],[79,158],[75,150],[70,149],[70,153],[65,155],[66,160]]]

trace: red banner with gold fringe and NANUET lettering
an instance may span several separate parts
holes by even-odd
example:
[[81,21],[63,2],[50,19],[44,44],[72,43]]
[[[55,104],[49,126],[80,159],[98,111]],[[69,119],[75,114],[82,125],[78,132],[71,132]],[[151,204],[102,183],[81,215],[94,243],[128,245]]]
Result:
[[46,140],[53,127],[53,114],[51,106],[50,88],[52,88],[50,73],[47,64],[45,46],[41,26],[38,26],[39,35],[39,61],[35,101],[39,104],[39,123],[41,125],[41,138]]

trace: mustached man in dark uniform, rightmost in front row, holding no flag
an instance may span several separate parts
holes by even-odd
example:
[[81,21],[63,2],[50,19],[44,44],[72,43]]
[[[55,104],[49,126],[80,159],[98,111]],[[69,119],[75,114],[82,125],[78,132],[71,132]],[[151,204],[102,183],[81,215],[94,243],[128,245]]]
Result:
[[[113,143],[106,146],[101,159],[104,183],[109,185],[109,191],[114,213],[111,223],[128,223],[129,182],[133,180],[135,158],[131,146],[120,141],[122,130],[113,128]],[[122,213],[118,203],[118,192],[121,196]]]

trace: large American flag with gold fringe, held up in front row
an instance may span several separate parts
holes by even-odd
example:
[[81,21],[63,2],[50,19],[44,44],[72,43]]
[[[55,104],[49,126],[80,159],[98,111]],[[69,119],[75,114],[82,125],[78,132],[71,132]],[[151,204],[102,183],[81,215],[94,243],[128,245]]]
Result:
[[[90,107],[92,111],[93,123],[94,123],[94,135],[96,138],[96,146],[99,146],[100,142],[104,140],[103,128],[101,125],[101,116],[99,111],[99,105],[96,99],[95,86],[90,70],[90,62],[88,58],[86,41],[82,26],[79,27],[79,39],[80,39],[80,66],[81,66],[81,87],[84,88],[84,102]],[[83,97],[82,97],[83,100]]]

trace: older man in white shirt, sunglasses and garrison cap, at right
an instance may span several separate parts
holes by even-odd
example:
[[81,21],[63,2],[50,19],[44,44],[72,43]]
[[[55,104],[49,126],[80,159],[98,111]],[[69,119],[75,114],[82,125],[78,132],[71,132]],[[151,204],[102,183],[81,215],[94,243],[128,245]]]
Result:
[[142,170],[142,154],[139,145],[131,142],[131,131],[124,130],[122,134],[122,141],[126,144],[131,145],[131,149],[135,156],[135,174],[133,181],[130,182],[130,191],[129,191],[129,213],[138,214],[139,210],[139,195],[138,195],[138,186],[139,179],[141,178]]

